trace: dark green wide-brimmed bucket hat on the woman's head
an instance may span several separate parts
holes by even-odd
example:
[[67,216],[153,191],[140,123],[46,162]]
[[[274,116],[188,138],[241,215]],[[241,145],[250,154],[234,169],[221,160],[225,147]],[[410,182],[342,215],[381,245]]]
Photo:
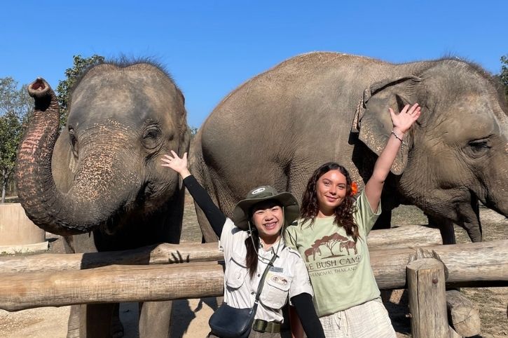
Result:
[[278,201],[284,207],[284,226],[291,224],[298,215],[300,207],[296,198],[289,192],[278,193],[269,185],[256,187],[247,193],[245,199],[236,203],[233,210],[233,222],[242,230],[249,229],[249,209],[252,205],[268,200]]

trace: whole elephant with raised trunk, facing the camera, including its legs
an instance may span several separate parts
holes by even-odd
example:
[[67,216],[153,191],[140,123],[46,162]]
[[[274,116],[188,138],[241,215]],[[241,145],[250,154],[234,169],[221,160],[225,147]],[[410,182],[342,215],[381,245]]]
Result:
[[[171,149],[181,156],[189,133],[184,97],[170,77],[148,63],[93,67],[71,93],[60,136],[48,83],[36,80],[29,93],[36,107],[16,172],[29,218],[67,235],[69,252],[179,243],[184,191],[160,156]],[[170,313],[171,302],[142,304],[140,337],[167,337]],[[122,334],[118,304],[72,307],[69,337]]]

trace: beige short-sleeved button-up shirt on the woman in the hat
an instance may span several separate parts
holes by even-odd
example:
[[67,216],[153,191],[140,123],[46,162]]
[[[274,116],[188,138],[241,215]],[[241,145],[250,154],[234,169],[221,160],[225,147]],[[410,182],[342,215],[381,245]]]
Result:
[[[256,319],[277,321],[282,323],[282,306],[286,304],[288,295],[291,297],[303,292],[313,296],[313,289],[307,268],[300,254],[288,248],[284,243],[275,243],[268,250],[259,248],[259,261],[257,271],[251,279],[245,264],[247,248],[245,239],[247,231],[243,231],[226,219],[222,229],[219,249],[224,251],[226,271],[224,273],[224,302],[237,309],[254,306],[256,291],[266,265],[278,248],[277,257],[273,267],[268,271],[263,290],[259,297],[259,306]],[[282,238],[281,238],[282,241]]]

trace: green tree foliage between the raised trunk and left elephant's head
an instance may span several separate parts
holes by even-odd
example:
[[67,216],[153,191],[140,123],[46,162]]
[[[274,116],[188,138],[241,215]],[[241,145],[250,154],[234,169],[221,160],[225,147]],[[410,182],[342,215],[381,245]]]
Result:
[[71,90],[76,83],[76,80],[91,66],[98,65],[104,62],[104,57],[100,55],[92,55],[90,58],[82,58],[81,55],[74,55],[74,65],[72,68],[65,70],[65,80],[58,81],[57,95],[58,103],[60,104],[60,128],[65,126],[67,122],[67,109],[70,102]]

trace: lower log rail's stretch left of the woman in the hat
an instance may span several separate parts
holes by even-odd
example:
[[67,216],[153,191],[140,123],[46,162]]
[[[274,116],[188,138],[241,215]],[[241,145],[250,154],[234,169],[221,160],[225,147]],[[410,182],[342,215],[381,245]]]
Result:
[[147,302],[221,296],[218,262],[174,265],[111,265],[95,269],[3,273],[0,309],[111,302]]

